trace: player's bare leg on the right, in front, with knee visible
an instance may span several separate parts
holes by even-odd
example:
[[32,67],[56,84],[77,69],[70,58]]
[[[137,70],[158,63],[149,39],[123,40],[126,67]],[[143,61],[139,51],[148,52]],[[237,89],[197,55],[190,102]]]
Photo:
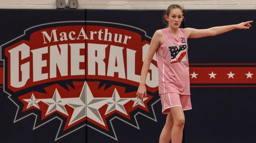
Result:
[[173,117],[173,128],[172,128],[172,143],[181,143],[183,128],[185,124],[185,116],[182,107],[170,108],[171,115]]

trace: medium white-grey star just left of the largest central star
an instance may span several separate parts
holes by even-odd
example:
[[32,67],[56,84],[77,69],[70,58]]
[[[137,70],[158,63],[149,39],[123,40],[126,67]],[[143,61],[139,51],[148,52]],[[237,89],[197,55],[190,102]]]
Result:
[[46,115],[51,114],[54,111],[59,111],[68,116],[67,111],[64,107],[64,105],[66,105],[66,102],[62,101],[62,98],[57,89],[55,89],[53,98],[40,99],[40,100],[49,105]]

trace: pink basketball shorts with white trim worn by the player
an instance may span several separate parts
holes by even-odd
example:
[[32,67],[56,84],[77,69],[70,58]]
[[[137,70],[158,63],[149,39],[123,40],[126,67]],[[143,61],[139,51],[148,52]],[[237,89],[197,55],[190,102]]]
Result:
[[179,93],[160,94],[162,103],[162,113],[170,113],[172,107],[182,107],[183,110],[192,109],[190,95],[181,95]]

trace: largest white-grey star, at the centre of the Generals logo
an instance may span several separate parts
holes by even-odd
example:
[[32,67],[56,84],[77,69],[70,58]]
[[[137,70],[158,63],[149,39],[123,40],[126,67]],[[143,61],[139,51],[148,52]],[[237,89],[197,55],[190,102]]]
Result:
[[85,81],[80,96],[77,98],[67,99],[68,105],[74,108],[74,112],[68,125],[83,119],[84,117],[88,117],[97,123],[106,126],[98,111],[99,108],[107,103],[106,99],[108,98],[94,98],[87,82]]

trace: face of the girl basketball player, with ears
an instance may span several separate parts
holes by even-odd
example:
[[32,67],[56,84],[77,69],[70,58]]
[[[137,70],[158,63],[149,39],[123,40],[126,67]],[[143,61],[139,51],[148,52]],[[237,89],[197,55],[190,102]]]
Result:
[[184,16],[182,15],[181,9],[173,9],[170,11],[169,16],[165,16],[165,19],[169,22],[169,26],[171,28],[179,28],[181,25],[181,22],[184,19]]

